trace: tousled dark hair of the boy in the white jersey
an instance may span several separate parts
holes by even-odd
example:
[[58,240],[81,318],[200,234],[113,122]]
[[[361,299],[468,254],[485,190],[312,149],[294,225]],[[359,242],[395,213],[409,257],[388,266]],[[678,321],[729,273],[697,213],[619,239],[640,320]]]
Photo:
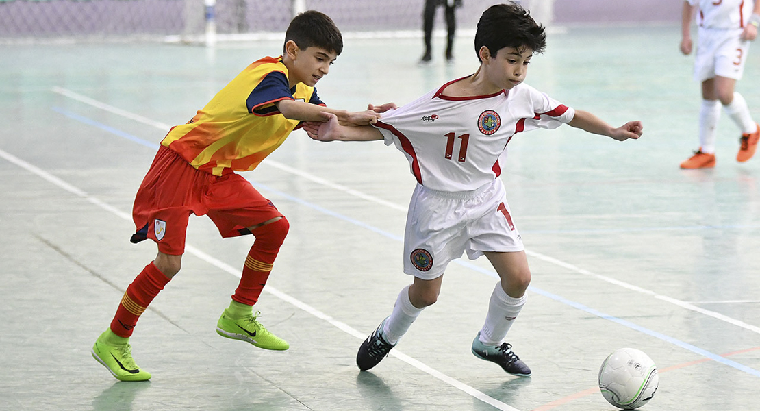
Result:
[[520,52],[525,48],[541,53],[546,48],[546,33],[530,17],[530,12],[515,3],[492,5],[477,23],[475,52],[480,60],[480,48],[486,46],[491,55],[496,55],[505,47],[514,47]]

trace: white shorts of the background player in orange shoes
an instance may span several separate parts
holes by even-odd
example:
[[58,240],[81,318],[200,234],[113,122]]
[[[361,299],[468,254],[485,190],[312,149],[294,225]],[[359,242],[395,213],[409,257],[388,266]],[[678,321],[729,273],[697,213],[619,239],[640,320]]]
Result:
[[740,80],[749,52],[749,41],[741,40],[742,30],[700,28],[694,60],[694,80],[715,76]]

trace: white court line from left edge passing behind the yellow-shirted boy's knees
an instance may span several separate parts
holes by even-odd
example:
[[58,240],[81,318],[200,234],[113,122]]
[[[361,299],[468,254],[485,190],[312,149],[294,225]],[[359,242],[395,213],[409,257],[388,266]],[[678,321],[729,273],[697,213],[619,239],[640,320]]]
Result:
[[[10,163],[14,163],[15,165],[21,167],[22,169],[26,169],[27,171],[40,176],[42,179],[45,179],[46,181],[51,182],[53,185],[56,185],[59,188],[62,188],[65,191],[70,192],[71,194],[74,194],[80,198],[84,198],[85,200],[90,201],[90,203],[103,208],[103,210],[109,211],[110,213],[114,213],[116,214],[116,216],[124,220],[128,220],[128,221],[132,220],[131,215],[129,215],[128,213],[124,213],[120,210],[117,210],[115,207],[112,207],[109,204],[106,204],[103,201],[100,201],[99,199],[91,196],[90,194],[87,194],[87,192],[85,192],[81,188],[68,184],[68,182],[65,182],[62,179],[55,177],[55,175],[52,175],[49,172],[46,172],[45,170],[40,169],[37,166],[33,166],[32,164],[27,163],[24,160],[21,160],[17,156],[14,156],[10,153],[6,153],[4,150],[0,150],[0,157],[4,158],[5,160],[8,160],[8,162]],[[189,254],[195,255],[195,257],[198,257],[203,261],[206,261],[208,264],[214,265],[215,267],[219,268],[220,270],[225,271],[226,273],[230,273],[237,278],[241,277],[241,272],[239,269],[232,267],[230,264],[226,264],[225,262],[212,257],[211,255],[208,255],[204,251],[201,251],[200,249],[195,248],[192,245],[186,244],[185,251],[188,252]],[[356,330],[355,328],[350,327],[348,324],[342,321],[337,321],[335,318],[332,318],[330,315],[326,315],[324,312],[319,311],[318,309],[312,307],[311,305],[306,304],[305,302],[300,301],[299,299],[294,298],[293,296],[289,296],[286,293],[275,289],[273,286],[269,284],[267,284],[267,286],[264,287],[264,291],[269,292],[270,294],[277,297],[278,299],[281,299],[285,302],[289,302],[290,304],[295,305],[297,308],[301,308],[303,311],[308,312],[310,315],[313,315],[316,318],[327,321],[328,323],[332,324],[334,327],[337,327],[339,330],[342,330],[345,333],[352,335],[353,337],[359,338],[361,340],[363,340],[366,337],[366,334],[359,332],[359,330]],[[431,375],[432,377],[438,378],[440,381],[443,381],[446,384],[451,385],[451,387],[457,388],[458,390],[461,390],[464,393],[469,394],[471,397],[474,397],[474,398],[477,398],[477,400],[483,401],[483,403],[487,403],[490,406],[494,406],[497,409],[502,409],[503,411],[518,411],[518,409],[512,406],[509,406],[506,403],[502,403],[501,401],[496,400],[496,398],[490,397],[487,394],[483,394],[483,392],[481,392],[480,390],[470,387],[469,385],[464,384],[463,382],[455,378],[451,378],[448,375],[443,374],[441,371],[437,371],[434,368],[431,368],[428,365],[425,365],[423,362],[420,362],[417,359],[413,359],[412,357],[407,356],[404,353],[401,353],[401,351],[399,351],[398,349],[392,350],[391,356],[394,356],[397,359],[401,359],[401,361],[406,362],[407,364],[413,366],[414,368],[417,368],[420,371],[423,371],[426,374]]]

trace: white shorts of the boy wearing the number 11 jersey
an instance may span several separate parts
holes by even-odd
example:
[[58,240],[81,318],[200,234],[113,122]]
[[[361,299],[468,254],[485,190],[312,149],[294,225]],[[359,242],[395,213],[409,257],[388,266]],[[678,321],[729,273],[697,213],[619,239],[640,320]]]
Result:
[[442,192],[417,185],[407,213],[404,273],[432,280],[464,251],[523,251],[500,179],[475,191]]

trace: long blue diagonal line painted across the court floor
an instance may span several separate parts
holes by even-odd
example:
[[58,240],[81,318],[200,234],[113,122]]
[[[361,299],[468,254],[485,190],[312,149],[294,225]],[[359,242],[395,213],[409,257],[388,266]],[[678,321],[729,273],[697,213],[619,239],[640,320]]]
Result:
[[[63,109],[57,109],[56,107],[53,107],[52,109],[54,111],[56,111],[56,112],[60,112],[63,115],[66,115],[66,116],[70,117],[71,119],[75,119],[75,120],[77,120],[79,122],[83,122],[84,124],[87,124],[87,125],[93,125],[93,126],[95,126],[97,128],[100,128],[100,129],[102,129],[104,131],[108,131],[109,133],[116,134],[119,137],[127,138],[130,141],[134,141],[134,142],[136,142],[138,144],[141,144],[141,145],[144,145],[146,147],[151,147],[151,148],[157,148],[158,147],[158,144],[154,144],[154,143],[150,143],[149,141],[142,140],[141,138],[137,138],[137,137],[135,137],[135,136],[133,136],[131,134],[127,134],[127,133],[125,133],[123,131],[120,131],[120,130],[118,130],[116,128],[112,128],[112,127],[109,127],[108,125],[104,125],[104,124],[102,124],[100,122],[96,122],[96,121],[94,121],[92,119],[87,119],[86,117],[83,117],[81,115],[77,115],[77,114],[74,114],[72,112],[67,112],[67,111],[65,111]],[[397,235],[395,235],[395,234],[393,234],[391,232],[387,232],[387,231],[385,231],[383,229],[378,229],[375,226],[371,226],[371,225],[369,225],[367,223],[363,223],[362,221],[359,221],[359,220],[353,219],[351,217],[345,216],[344,214],[337,213],[337,212],[335,212],[333,210],[329,210],[329,209],[327,209],[325,207],[318,206],[317,204],[313,204],[312,202],[306,201],[306,200],[304,200],[302,198],[298,198],[298,197],[295,197],[293,195],[287,194],[287,193],[285,193],[283,191],[279,191],[277,189],[271,188],[268,185],[264,185],[264,184],[255,182],[255,181],[252,181],[250,179],[249,179],[249,181],[252,184],[254,184],[256,186],[256,188],[261,188],[264,191],[270,191],[271,193],[276,194],[276,195],[278,195],[278,196],[280,196],[282,198],[285,198],[285,199],[287,199],[289,201],[293,201],[293,202],[295,202],[297,204],[302,204],[302,205],[304,205],[306,207],[309,207],[309,208],[312,208],[314,210],[317,210],[320,213],[325,213],[328,216],[337,218],[338,220],[344,220],[347,223],[352,223],[352,224],[355,224],[356,226],[362,227],[364,229],[369,229],[370,231],[376,232],[376,233],[380,234],[381,236],[387,237],[388,239],[392,239],[392,240],[398,241],[398,242],[404,242],[404,238],[403,237],[397,236]],[[495,272],[493,272],[492,270],[486,270],[486,269],[484,269],[482,267],[478,267],[475,264],[470,264],[467,261],[463,261],[461,259],[457,259],[457,260],[454,260],[453,262],[455,264],[461,265],[462,267],[467,267],[470,270],[474,270],[474,271],[477,271],[479,273],[483,273],[483,274],[485,274],[485,275],[487,275],[489,277],[494,277],[496,279],[499,278],[499,275],[496,274]],[[748,367],[746,365],[739,364],[739,362],[735,362],[735,361],[732,361],[730,359],[727,359],[727,358],[724,358],[722,356],[719,356],[717,354],[711,353],[711,352],[709,352],[709,351],[707,351],[705,349],[699,348],[698,346],[693,346],[692,344],[685,343],[685,342],[683,342],[681,340],[677,340],[676,338],[667,336],[665,334],[658,333],[657,331],[650,330],[650,329],[645,328],[645,327],[641,327],[640,325],[634,324],[631,321],[623,320],[622,318],[617,318],[617,317],[614,317],[613,315],[604,314],[603,312],[598,311],[598,310],[596,310],[594,308],[587,307],[586,305],[583,305],[583,304],[581,304],[579,302],[574,302],[572,300],[565,299],[562,296],[557,296],[556,294],[553,294],[553,293],[548,292],[548,291],[544,291],[543,289],[539,289],[539,288],[534,287],[534,286],[528,286],[528,290],[530,290],[530,292],[535,292],[536,294],[538,294],[540,296],[545,296],[545,297],[548,297],[549,299],[553,299],[556,302],[561,302],[562,304],[569,305],[569,306],[571,306],[573,308],[578,308],[579,310],[585,311],[585,312],[587,312],[587,313],[589,313],[591,315],[596,315],[599,318],[603,318],[605,320],[613,321],[613,322],[615,322],[617,324],[620,324],[622,326],[629,327],[632,330],[637,330],[637,331],[639,331],[641,333],[644,333],[644,334],[647,334],[647,335],[649,335],[651,337],[655,337],[655,338],[657,338],[659,340],[663,340],[666,343],[670,343],[670,344],[673,344],[675,346],[679,346],[679,347],[681,347],[683,349],[687,349],[687,350],[691,351],[692,353],[696,353],[696,354],[698,354],[700,356],[704,356],[704,357],[707,357],[709,359],[712,359],[715,362],[720,362],[721,364],[728,365],[730,367],[736,368],[739,371],[744,371],[744,372],[746,372],[749,375],[755,375],[755,377],[760,377],[760,371],[756,370],[755,368],[751,368],[751,367]]]

